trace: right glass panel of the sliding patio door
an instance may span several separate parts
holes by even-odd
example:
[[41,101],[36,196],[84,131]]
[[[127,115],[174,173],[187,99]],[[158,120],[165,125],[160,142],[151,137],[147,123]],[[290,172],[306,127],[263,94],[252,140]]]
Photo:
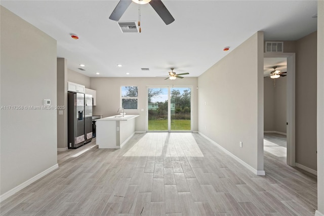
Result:
[[191,88],[171,88],[171,130],[191,130]]

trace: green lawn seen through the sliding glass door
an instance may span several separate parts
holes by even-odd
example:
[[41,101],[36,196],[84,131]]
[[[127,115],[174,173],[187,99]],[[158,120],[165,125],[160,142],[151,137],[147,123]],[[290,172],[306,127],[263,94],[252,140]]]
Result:
[[[148,130],[168,130],[168,120],[148,120]],[[171,120],[171,130],[190,130],[190,120]]]

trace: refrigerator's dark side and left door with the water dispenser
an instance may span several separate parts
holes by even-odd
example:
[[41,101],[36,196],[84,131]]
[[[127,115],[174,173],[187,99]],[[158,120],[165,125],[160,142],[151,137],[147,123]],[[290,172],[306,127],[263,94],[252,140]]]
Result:
[[69,149],[85,143],[85,94],[67,93],[67,140]]

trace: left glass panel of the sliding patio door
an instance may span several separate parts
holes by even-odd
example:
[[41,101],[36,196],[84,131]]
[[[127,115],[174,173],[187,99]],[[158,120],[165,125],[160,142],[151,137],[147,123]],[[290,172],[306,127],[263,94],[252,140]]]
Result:
[[147,88],[148,131],[168,129],[168,88]]

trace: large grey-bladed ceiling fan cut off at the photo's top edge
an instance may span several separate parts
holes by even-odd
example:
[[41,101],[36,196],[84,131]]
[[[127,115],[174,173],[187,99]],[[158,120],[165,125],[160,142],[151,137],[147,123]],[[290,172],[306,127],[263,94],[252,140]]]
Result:
[[109,19],[118,21],[132,2],[140,5],[149,3],[167,25],[174,21],[173,16],[160,0],[120,0]]

